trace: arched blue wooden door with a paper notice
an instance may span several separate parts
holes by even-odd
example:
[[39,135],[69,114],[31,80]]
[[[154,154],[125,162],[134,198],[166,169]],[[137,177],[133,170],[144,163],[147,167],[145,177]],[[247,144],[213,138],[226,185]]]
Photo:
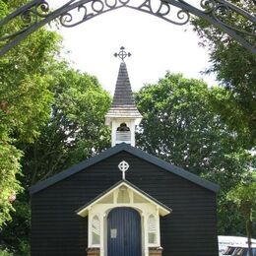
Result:
[[107,256],[142,256],[141,217],[128,207],[113,209],[107,217]]

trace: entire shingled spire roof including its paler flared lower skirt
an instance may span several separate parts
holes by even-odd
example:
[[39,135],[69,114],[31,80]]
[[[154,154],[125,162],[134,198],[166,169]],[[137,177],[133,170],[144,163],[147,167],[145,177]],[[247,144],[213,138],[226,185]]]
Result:
[[111,108],[106,114],[107,120],[111,117],[142,118],[133,97],[130,80],[124,61],[120,63],[115,92]]

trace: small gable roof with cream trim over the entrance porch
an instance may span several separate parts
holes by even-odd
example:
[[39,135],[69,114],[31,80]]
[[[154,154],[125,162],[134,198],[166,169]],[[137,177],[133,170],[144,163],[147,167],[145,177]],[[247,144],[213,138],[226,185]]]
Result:
[[143,190],[141,190],[140,188],[138,188],[137,186],[135,186],[134,184],[132,184],[128,180],[122,179],[122,180],[118,181],[117,183],[115,183],[110,188],[108,188],[107,190],[105,190],[103,193],[99,194],[95,199],[93,199],[92,201],[90,201],[86,205],[84,205],[81,208],[79,208],[76,211],[76,213],[78,215],[82,216],[82,217],[87,216],[87,211],[93,205],[95,205],[100,200],[102,200],[104,197],[106,197],[107,195],[112,193],[115,189],[118,189],[118,188],[120,188],[123,185],[125,185],[127,188],[132,189],[135,193],[141,195],[142,197],[144,197],[150,203],[153,203],[154,205],[157,205],[160,208],[160,216],[165,216],[165,215],[168,215],[168,214],[170,214],[172,212],[172,210],[169,207],[167,207],[164,204],[160,203],[160,201],[158,201],[156,198],[150,196],[149,194],[147,194],[146,192],[144,192]]

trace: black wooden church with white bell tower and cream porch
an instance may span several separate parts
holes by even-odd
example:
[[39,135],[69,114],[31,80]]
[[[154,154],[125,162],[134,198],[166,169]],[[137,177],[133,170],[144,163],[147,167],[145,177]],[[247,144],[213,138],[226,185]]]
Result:
[[218,185],[135,148],[141,119],[122,61],[112,148],[31,188],[32,256],[218,255]]

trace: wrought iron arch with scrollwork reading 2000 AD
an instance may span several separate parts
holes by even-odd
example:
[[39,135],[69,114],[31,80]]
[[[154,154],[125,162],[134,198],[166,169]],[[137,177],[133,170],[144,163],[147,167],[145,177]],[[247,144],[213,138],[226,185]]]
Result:
[[[77,26],[96,16],[122,7],[145,12],[175,25],[185,25],[191,15],[200,17],[220,28],[242,46],[256,54],[256,17],[225,0],[198,0],[200,6],[193,6],[184,0],[67,0],[63,6],[52,10],[47,0],[32,0],[0,21],[0,29],[6,33],[0,37],[3,45],[0,56],[18,44],[38,28],[58,19],[67,28]],[[80,20],[74,19],[74,13],[82,14]],[[236,25],[236,19],[243,19],[246,30]],[[16,19],[22,19],[24,28],[8,32],[7,26]]]

